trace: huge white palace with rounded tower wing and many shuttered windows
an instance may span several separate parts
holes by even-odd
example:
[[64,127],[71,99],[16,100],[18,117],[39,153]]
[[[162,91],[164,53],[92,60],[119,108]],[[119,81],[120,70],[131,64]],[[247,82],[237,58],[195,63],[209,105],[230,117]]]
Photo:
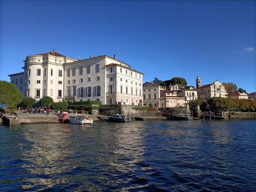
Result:
[[143,105],[144,74],[116,60],[116,55],[75,60],[53,50],[27,56],[24,62],[24,72],[8,75],[24,97]]

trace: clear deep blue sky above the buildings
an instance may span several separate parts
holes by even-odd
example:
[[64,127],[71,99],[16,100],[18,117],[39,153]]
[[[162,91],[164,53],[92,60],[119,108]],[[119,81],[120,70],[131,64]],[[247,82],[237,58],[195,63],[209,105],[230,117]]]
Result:
[[256,91],[256,1],[0,1],[0,76],[26,56],[109,55],[152,81],[183,77]]

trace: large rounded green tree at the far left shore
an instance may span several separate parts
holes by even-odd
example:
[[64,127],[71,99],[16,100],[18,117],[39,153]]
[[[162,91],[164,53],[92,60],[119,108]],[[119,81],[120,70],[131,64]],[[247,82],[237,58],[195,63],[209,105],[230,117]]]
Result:
[[15,108],[22,101],[23,95],[18,88],[7,81],[0,81],[0,103]]

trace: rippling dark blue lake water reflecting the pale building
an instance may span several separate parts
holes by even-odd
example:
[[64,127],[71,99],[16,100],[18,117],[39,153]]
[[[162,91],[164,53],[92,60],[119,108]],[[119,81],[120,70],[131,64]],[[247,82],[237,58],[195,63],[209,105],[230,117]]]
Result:
[[0,191],[256,191],[256,120],[0,126]]

